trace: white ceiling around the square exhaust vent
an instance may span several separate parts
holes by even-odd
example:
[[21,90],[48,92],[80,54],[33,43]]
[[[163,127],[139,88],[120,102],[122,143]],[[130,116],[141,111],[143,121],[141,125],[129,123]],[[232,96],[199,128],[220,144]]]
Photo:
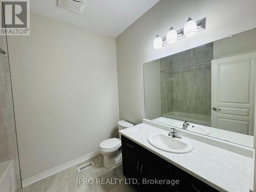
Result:
[[57,0],[31,0],[30,10],[85,29],[117,37],[159,0],[87,0],[83,14],[57,7]]

